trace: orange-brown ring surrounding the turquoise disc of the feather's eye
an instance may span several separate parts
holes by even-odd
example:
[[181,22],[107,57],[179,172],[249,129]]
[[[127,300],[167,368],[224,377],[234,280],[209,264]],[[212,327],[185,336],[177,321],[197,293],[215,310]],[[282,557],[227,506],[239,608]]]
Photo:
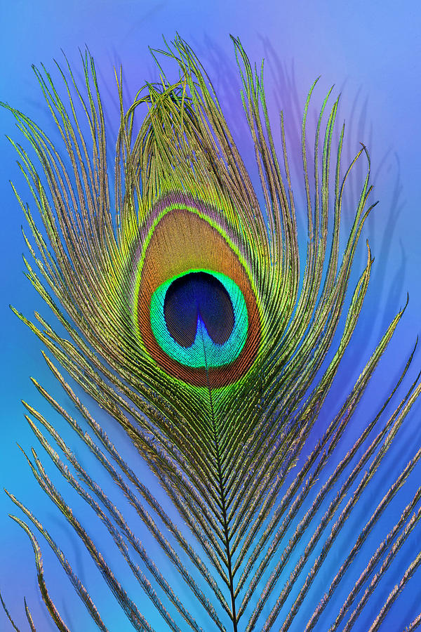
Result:
[[[157,287],[187,270],[222,272],[239,286],[246,301],[248,332],[239,356],[223,367],[193,369],[173,360],[156,342],[150,324],[150,302]],[[138,326],[148,353],[166,373],[194,386],[220,388],[239,380],[255,360],[260,344],[260,315],[255,295],[236,253],[218,230],[187,209],[164,215],[145,252],[138,295]]]

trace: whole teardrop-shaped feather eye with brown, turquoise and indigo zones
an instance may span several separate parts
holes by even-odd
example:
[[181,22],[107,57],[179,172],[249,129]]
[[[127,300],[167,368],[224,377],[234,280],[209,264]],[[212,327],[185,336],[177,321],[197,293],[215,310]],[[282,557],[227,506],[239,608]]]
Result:
[[258,355],[258,297],[239,244],[218,226],[215,209],[186,202],[167,196],[149,218],[138,255],[135,326],[168,375],[223,388],[247,374]]

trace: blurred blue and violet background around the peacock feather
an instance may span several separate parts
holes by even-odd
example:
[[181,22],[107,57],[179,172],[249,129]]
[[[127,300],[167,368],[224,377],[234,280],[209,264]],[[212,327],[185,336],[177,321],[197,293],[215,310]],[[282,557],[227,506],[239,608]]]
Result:
[[[213,79],[213,83],[227,110],[227,117],[239,147],[250,171],[256,176],[253,167],[253,150],[246,136],[245,124],[241,115],[241,103],[238,94],[232,42],[229,33],[241,38],[243,46],[252,60],[260,63],[266,59],[266,86],[269,107],[272,113],[283,108],[286,111],[288,141],[293,162],[293,171],[297,175],[299,166],[299,145],[297,144],[297,124],[309,86],[315,77],[322,75],[316,91],[314,104],[319,105],[326,90],[335,83],[342,91],[342,105],[339,121],[347,120],[347,138],[345,157],[358,150],[359,141],[366,143],[370,150],[373,165],[373,183],[375,197],[380,204],[375,214],[368,220],[361,239],[361,248],[354,266],[354,280],[366,261],[365,238],[367,237],[375,256],[373,276],[369,296],[363,308],[363,316],[352,340],[351,348],[345,357],[340,374],[335,381],[326,406],[323,409],[319,428],[313,433],[313,439],[321,434],[323,423],[335,412],[347,389],[359,376],[363,364],[368,359],[387,323],[405,303],[407,291],[410,302],[406,314],[396,331],[392,343],[377,369],[373,382],[359,406],[340,452],[343,454],[358,436],[367,420],[370,420],[382,397],[396,380],[403,368],[406,357],[417,334],[420,333],[421,291],[420,291],[420,33],[421,20],[419,3],[407,1],[403,8],[390,0],[356,0],[352,3],[338,1],[309,2],[295,0],[292,3],[279,3],[279,0],[227,1],[185,0],[170,1],[129,1],[129,0],[93,0],[87,3],[70,0],[58,3],[53,0],[17,0],[14,3],[2,3],[0,8],[2,37],[0,41],[0,100],[23,110],[41,124],[47,133],[53,133],[51,121],[46,115],[41,92],[31,70],[31,64],[44,62],[53,69],[53,58],[62,59],[60,49],[76,65],[78,47],[88,45],[93,53],[102,96],[105,100],[108,122],[112,133],[117,126],[116,90],[113,66],[123,63],[126,94],[133,96],[145,79],[154,79],[156,73],[149,56],[147,46],[161,47],[163,34],[172,39],[178,31],[194,47]],[[80,66],[79,66],[80,67]],[[6,110],[0,110],[0,187],[1,187],[1,385],[2,414],[0,441],[0,481],[1,487],[11,490],[19,499],[36,510],[38,515],[62,546],[74,570],[86,582],[88,590],[96,601],[105,623],[113,632],[131,629],[118,605],[107,596],[107,587],[96,572],[90,559],[86,558],[82,545],[70,533],[65,520],[58,515],[55,507],[38,488],[29,473],[25,459],[16,446],[29,449],[36,446],[29,427],[23,417],[21,399],[37,405],[48,419],[56,420],[58,428],[71,442],[90,471],[100,472],[90,456],[68,433],[64,423],[50,414],[48,407],[41,402],[29,376],[51,387],[52,392],[61,397],[60,389],[42,360],[39,341],[18,321],[8,308],[15,305],[25,315],[34,310],[48,317],[48,310],[29,282],[22,274],[22,251],[25,251],[20,225],[24,222],[8,180],[18,185],[25,201],[30,202],[29,193],[15,164],[15,152],[5,138],[5,134],[20,140],[15,129],[13,117]],[[295,169],[297,166],[297,169]],[[356,175],[362,175],[362,166]],[[351,189],[356,192],[358,178],[352,181]],[[298,206],[302,202],[300,190],[296,192]],[[349,197],[349,201],[352,196]],[[300,225],[305,226],[304,211],[298,211]],[[345,225],[349,225],[352,206],[345,209]],[[345,232],[344,232],[345,234]],[[410,376],[415,377],[421,364],[421,355],[415,356]],[[410,378],[406,384],[408,385]],[[403,390],[400,391],[403,394]],[[67,400],[62,398],[67,404]],[[397,400],[396,400],[397,401]],[[94,412],[95,409],[93,408]],[[385,490],[401,471],[415,449],[421,444],[420,404],[413,407],[410,416],[401,429],[392,453],[387,456],[387,465],[363,496],[355,511],[355,521],[349,520],[341,532],[330,556],[332,565],[342,560],[341,553],[346,550],[349,537],[355,534],[356,524],[363,524],[373,508],[382,498]],[[126,445],[123,434],[115,430],[108,420],[103,420],[109,429],[117,447],[128,459],[136,461],[136,455]],[[47,463],[47,459],[44,459]],[[136,466],[142,475],[142,466]],[[60,478],[52,467],[48,467],[53,481]],[[387,510],[385,518],[377,525],[374,537],[370,537],[369,546],[380,541],[399,517],[403,506],[420,480],[420,467],[415,469],[408,485],[400,492]],[[146,473],[145,473],[146,475]],[[60,489],[65,489],[61,486]],[[112,493],[112,492],[110,492]],[[159,492],[157,492],[159,493]],[[315,493],[315,492],[314,492]],[[314,494],[313,494],[314,495]],[[85,515],[85,521],[91,525],[91,534],[98,538],[99,546],[109,547],[112,543],[102,525],[97,524],[83,503],[75,494],[67,492],[69,503],[75,513]],[[116,502],[122,502],[116,496]],[[129,515],[130,509],[127,510]],[[41,632],[55,629],[46,617],[44,606],[39,597],[32,547],[27,536],[10,518],[8,513],[18,513],[6,494],[0,494],[0,588],[9,610],[18,625],[27,629],[23,612],[23,596],[26,595],[32,610],[37,629]],[[139,524],[135,520],[131,525]],[[142,538],[144,529],[141,528]],[[154,543],[148,537],[143,538],[151,547]],[[60,612],[72,630],[89,631],[94,628],[83,605],[79,604],[74,592],[62,572],[61,567],[50,554],[48,546],[41,536],[39,541],[44,551],[46,580]],[[387,594],[399,581],[401,574],[421,548],[420,529],[408,539],[401,551],[401,557],[392,566],[386,581],[382,581],[380,591],[364,611],[359,630],[369,626],[382,606]],[[298,547],[298,558],[301,549]],[[159,553],[156,553],[159,555]],[[120,579],[127,572],[117,556],[114,571]],[[114,558],[113,558],[114,559]],[[164,573],[171,576],[168,562],[159,557]],[[361,572],[361,567],[359,572]],[[352,575],[352,574],[351,574]],[[344,598],[359,573],[352,575],[337,592],[337,598]],[[321,572],[316,579],[314,590],[309,595],[311,607],[302,618],[298,617],[293,630],[300,632],[311,614],[316,600],[322,591],[328,588],[330,575]],[[421,589],[420,572],[410,581],[401,600],[389,613],[385,630],[401,630],[420,610]],[[351,581],[352,580],[352,581]],[[132,598],[137,601],[140,610],[148,615],[156,629],[163,630],[155,614],[149,616],[149,603],[141,588],[135,586],[130,577],[125,582]],[[313,600],[312,600],[313,599]],[[191,598],[187,597],[187,603]],[[290,604],[290,601],[288,601]],[[194,606],[192,606],[194,610]],[[307,612],[307,617],[305,614]],[[326,610],[326,617],[333,610]],[[326,627],[327,628],[327,627]],[[11,629],[4,612],[0,610],[0,631]],[[325,629],[325,624],[319,626]]]

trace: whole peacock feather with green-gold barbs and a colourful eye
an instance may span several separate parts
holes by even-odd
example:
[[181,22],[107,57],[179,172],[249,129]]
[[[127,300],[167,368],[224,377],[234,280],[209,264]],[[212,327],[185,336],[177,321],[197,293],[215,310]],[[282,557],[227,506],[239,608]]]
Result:
[[[121,74],[116,77],[121,120],[113,169],[107,164],[105,114],[88,53],[82,58],[83,86],[69,66],[59,67],[64,98],[50,74],[35,69],[61,136],[60,150],[25,114],[6,106],[34,154],[14,143],[41,219],[16,192],[32,233],[25,235],[33,260],[25,259],[27,277],[58,327],[38,313],[34,322],[16,313],[46,348],[48,367],[76,416],[33,381],[123,492],[142,525],[128,526],[57,428],[25,403],[27,421],[62,476],[107,527],[149,598],[147,605],[135,602],[116,579],[107,555],[55,488],[36,451],[25,456],[138,631],[153,629],[147,616],[151,608],[161,617],[158,632],[304,629],[295,617],[307,607],[330,549],[370,490],[421,390],[415,381],[390,410],[412,352],[378,414],[366,421],[352,448],[341,452],[341,437],[403,308],[338,411],[328,423],[321,418],[370,279],[373,258],[367,244],[365,267],[349,288],[357,244],[374,206],[369,202],[370,160],[361,145],[352,164],[342,168],[345,126],[336,133],[339,98],[328,107],[330,92],[316,122],[314,154],[309,152],[307,116],[315,82],[302,119],[308,239],[307,253],[300,256],[283,116],[278,156],[263,72],[253,69],[240,42],[233,41],[260,175],[258,192],[205,70],[180,38],[152,53],[160,79],[146,84],[129,107],[123,105]],[[168,80],[163,59],[178,66],[177,81]],[[139,124],[138,112],[145,109]],[[342,199],[349,174],[361,161],[366,176],[344,246]],[[89,396],[86,403],[78,389]],[[95,420],[90,409],[98,404],[130,437],[149,480],[123,460]],[[323,433],[312,442],[315,424],[319,429],[323,424]],[[368,535],[420,455],[418,450],[403,463],[343,551],[328,584],[319,585],[319,605],[309,612],[306,631],[349,631],[354,624],[361,630],[359,615],[420,518],[421,488],[373,546],[345,600],[333,607],[335,590],[352,572]],[[156,494],[158,488],[165,497]],[[57,555],[93,622],[107,630],[51,533],[8,495],[23,513],[12,517],[32,541],[41,595],[58,629],[69,627],[48,592],[36,532]],[[142,544],[145,532],[171,562],[174,581]],[[302,554],[295,558],[297,549]],[[385,595],[370,631],[384,621],[388,629],[387,612],[420,561],[418,554]],[[26,602],[25,612],[34,630]],[[421,615],[407,629],[420,622]]]

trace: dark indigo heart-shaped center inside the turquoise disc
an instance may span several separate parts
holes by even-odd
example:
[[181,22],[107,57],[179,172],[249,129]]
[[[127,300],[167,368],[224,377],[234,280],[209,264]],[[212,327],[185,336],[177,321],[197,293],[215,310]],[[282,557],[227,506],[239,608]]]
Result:
[[168,287],[163,301],[166,327],[175,342],[188,348],[197,330],[205,327],[217,345],[227,342],[234,329],[234,308],[222,283],[206,272],[190,272]]

